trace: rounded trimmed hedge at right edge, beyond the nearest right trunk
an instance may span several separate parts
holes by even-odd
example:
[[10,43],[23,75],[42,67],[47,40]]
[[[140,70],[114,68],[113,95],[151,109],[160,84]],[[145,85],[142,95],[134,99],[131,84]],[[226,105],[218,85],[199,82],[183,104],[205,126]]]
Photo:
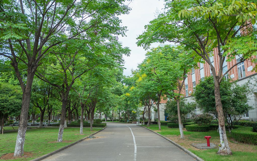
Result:
[[231,135],[238,142],[257,145],[257,133],[253,132],[252,129],[252,127],[240,126],[231,130]]

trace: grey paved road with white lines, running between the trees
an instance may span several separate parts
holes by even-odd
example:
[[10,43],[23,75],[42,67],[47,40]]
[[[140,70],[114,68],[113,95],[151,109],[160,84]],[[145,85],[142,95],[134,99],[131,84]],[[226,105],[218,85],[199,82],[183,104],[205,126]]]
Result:
[[44,160],[193,160],[166,139],[133,124],[107,123],[94,136]]

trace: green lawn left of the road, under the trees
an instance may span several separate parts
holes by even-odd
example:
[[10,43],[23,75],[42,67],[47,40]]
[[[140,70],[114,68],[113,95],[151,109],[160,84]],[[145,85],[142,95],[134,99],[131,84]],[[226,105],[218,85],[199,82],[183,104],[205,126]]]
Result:
[[[16,160],[31,160],[37,158],[39,156],[55,151],[65,145],[78,141],[79,139],[93,134],[101,129],[102,128],[93,128],[93,131],[90,131],[90,128],[83,128],[84,135],[76,135],[79,134],[79,128],[65,128],[63,132],[63,141],[70,142],[63,143],[55,142],[57,141],[59,128],[48,127],[27,130],[24,152],[33,153],[33,157],[17,158]],[[16,137],[17,133],[15,132],[6,132],[4,133],[4,135],[0,135],[0,157],[6,153],[14,152]]]

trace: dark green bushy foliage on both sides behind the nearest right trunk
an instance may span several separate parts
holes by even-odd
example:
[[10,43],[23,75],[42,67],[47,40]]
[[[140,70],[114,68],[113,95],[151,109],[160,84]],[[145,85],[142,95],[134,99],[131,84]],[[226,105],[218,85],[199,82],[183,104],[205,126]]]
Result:
[[[220,84],[220,93],[225,121],[232,129],[233,122],[252,109],[246,97],[246,94],[249,93],[249,87],[246,84],[238,85],[236,82],[223,79]],[[192,96],[201,111],[218,117],[213,77],[205,77],[203,81],[200,81]]]

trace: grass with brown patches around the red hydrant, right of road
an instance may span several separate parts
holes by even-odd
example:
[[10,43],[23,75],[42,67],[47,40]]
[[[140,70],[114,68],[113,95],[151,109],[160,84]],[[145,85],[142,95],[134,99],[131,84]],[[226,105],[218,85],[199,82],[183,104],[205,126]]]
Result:
[[[146,125],[143,125],[146,127]],[[150,125],[151,130],[158,132],[159,134],[168,137],[169,139],[175,141],[176,143],[187,148],[189,151],[193,152],[200,158],[204,160],[257,160],[257,145],[249,145],[243,143],[237,143],[231,137],[231,134],[227,131],[227,137],[229,145],[231,147],[232,156],[220,156],[217,155],[218,148],[200,150],[193,147],[192,143],[206,143],[204,136],[211,136],[211,143],[219,144],[219,133],[215,131],[208,132],[190,132],[184,129],[185,139],[180,139],[179,128],[169,128],[168,126],[161,126],[159,130],[158,125]]]

